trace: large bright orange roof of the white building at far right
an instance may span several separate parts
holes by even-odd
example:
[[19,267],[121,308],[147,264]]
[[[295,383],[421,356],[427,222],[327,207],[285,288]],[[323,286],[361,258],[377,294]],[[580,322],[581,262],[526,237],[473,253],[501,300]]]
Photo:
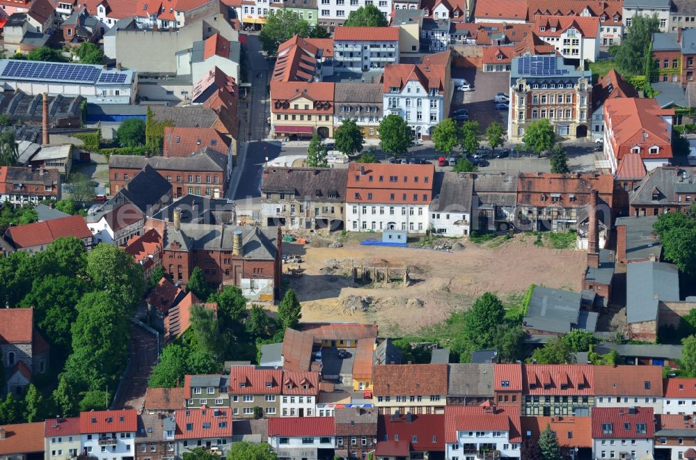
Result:
[[[661,109],[654,99],[617,98],[604,103],[604,120],[609,125],[609,139],[617,159],[640,148],[643,159],[672,158],[672,138],[663,116],[674,116],[673,109]],[[657,154],[649,148],[657,145]]]

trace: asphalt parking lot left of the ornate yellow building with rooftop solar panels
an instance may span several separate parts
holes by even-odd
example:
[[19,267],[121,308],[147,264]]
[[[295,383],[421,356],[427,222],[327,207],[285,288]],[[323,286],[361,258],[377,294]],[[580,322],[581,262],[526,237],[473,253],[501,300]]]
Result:
[[451,111],[467,109],[469,120],[479,122],[481,132],[496,121],[507,129],[507,110],[496,110],[493,97],[496,93],[509,94],[510,72],[483,72],[480,69],[457,69],[452,78],[464,78],[471,84],[472,91],[454,91]]

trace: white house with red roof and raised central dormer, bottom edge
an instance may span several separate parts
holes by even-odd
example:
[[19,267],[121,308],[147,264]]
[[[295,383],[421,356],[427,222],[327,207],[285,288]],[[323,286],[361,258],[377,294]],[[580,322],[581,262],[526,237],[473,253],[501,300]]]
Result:
[[445,408],[445,456],[450,460],[519,458],[522,443],[520,413],[514,406]]

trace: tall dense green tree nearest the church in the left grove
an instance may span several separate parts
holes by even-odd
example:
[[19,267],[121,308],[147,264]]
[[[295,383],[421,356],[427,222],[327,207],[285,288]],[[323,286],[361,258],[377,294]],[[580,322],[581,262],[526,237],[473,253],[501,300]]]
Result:
[[128,356],[129,322],[120,301],[108,291],[89,292],[77,303],[72,354],[66,376],[86,390],[113,386]]

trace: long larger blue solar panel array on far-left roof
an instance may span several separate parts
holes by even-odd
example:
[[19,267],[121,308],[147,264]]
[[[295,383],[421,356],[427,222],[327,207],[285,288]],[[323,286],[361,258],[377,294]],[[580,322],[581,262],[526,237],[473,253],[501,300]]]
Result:
[[94,83],[101,70],[93,65],[8,61],[1,77]]

